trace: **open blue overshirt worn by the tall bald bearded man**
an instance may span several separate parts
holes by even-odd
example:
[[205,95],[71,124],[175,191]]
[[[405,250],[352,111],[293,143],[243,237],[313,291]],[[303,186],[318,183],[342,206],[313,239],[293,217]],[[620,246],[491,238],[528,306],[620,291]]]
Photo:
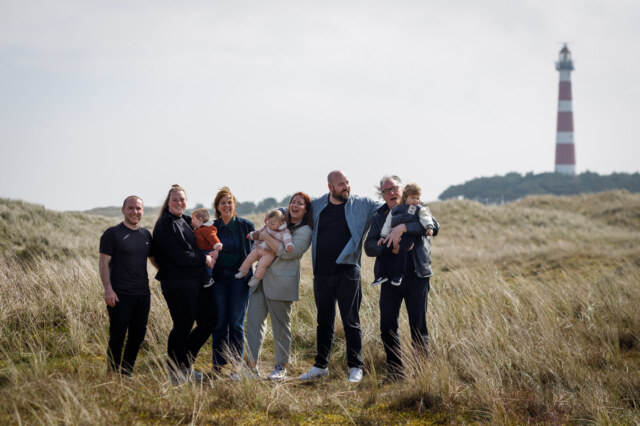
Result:
[[[316,243],[318,240],[318,221],[320,213],[329,204],[329,194],[316,198],[311,202],[313,207],[313,246],[311,249],[313,268],[316,266]],[[347,219],[347,226],[351,232],[351,239],[342,249],[336,263],[346,265],[356,265],[360,268],[360,258],[362,257],[362,242],[367,234],[371,217],[380,207],[380,203],[367,197],[351,195],[345,202],[344,214]]]

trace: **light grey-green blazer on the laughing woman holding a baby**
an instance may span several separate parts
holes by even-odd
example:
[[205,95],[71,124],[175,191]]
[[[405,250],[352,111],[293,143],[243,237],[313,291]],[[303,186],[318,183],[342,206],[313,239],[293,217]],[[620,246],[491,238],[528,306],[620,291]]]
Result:
[[[262,277],[262,291],[267,299],[295,301],[299,297],[300,258],[311,245],[311,228],[304,225],[292,232],[293,251],[288,253],[280,244],[278,257]],[[256,286],[257,287],[257,286]],[[255,290],[254,287],[252,289]]]

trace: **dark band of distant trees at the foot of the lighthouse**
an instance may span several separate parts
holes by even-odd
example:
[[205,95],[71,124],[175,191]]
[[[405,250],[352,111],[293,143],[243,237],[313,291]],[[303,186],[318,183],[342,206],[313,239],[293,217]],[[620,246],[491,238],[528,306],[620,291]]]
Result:
[[535,175],[530,172],[523,176],[512,172],[505,176],[477,178],[450,186],[438,198],[464,197],[485,204],[499,204],[534,194],[573,195],[612,189],[640,192],[640,173],[600,176],[587,171],[571,176],[559,173]]

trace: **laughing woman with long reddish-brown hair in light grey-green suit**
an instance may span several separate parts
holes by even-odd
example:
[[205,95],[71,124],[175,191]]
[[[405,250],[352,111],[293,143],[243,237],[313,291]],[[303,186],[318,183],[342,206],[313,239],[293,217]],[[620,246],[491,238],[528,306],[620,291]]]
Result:
[[291,307],[298,300],[300,258],[311,244],[313,227],[311,199],[307,194],[297,192],[291,197],[286,218],[294,249],[289,253],[268,233],[260,234],[260,239],[266,241],[278,257],[251,293],[247,312],[247,366],[256,376],[259,375],[256,363],[267,328],[267,315],[271,317],[276,363],[269,375],[271,380],[286,377],[291,355]]

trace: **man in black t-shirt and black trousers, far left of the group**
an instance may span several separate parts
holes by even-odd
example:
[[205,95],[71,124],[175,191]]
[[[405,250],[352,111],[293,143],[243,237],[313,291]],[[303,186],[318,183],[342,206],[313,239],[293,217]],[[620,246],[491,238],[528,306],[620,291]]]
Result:
[[[153,263],[151,233],[140,227],[144,204],[131,195],[122,204],[124,220],[100,237],[100,279],[109,313],[108,366],[131,375],[144,340],[151,293],[147,258]],[[125,336],[127,344],[122,354]]]

